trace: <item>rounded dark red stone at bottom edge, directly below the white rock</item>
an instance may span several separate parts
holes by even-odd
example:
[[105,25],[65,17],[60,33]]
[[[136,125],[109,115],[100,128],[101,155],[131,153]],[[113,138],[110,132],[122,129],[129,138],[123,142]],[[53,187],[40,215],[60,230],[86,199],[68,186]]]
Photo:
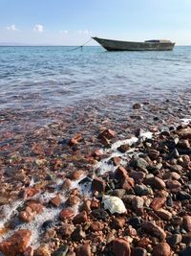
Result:
[[115,239],[112,244],[112,252],[115,256],[130,256],[130,244],[125,239]]

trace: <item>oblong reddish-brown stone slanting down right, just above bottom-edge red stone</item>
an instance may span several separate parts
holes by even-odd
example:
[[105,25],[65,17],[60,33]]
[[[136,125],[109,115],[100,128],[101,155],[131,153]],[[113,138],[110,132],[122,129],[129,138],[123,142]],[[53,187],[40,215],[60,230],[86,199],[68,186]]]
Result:
[[155,236],[159,238],[159,240],[163,241],[166,238],[166,233],[165,231],[156,225],[152,221],[144,221],[142,223],[142,228],[150,235]]

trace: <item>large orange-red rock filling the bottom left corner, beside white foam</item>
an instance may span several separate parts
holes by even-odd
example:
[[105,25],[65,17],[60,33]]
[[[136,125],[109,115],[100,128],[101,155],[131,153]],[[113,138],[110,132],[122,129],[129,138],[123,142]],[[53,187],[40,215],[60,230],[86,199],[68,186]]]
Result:
[[32,232],[28,229],[16,231],[9,239],[0,243],[0,251],[5,256],[17,256],[24,253],[31,241]]

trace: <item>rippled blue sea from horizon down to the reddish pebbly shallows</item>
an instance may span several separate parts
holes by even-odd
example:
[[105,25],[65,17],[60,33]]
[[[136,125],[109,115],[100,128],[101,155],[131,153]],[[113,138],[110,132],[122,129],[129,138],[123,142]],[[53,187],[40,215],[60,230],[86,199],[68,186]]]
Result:
[[[0,47],[1,119],[15,128],[53,122],[73,109],[95,108],[119,119],[130,105],[176,100],[191,89],[191,46],[165,52],[107,52],[99,46]],[[14,122],[11,122],[11,119]],[[14,123],[14,124],[13,124]],[[30,128],[30,126],[29,126]]]

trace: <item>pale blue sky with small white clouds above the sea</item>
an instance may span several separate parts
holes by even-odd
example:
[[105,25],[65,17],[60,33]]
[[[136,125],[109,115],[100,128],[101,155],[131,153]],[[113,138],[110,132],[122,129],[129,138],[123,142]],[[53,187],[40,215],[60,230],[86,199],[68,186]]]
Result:
[[81,45],[94,35],[191,45],[191,0],[0,0],[0,44]]

